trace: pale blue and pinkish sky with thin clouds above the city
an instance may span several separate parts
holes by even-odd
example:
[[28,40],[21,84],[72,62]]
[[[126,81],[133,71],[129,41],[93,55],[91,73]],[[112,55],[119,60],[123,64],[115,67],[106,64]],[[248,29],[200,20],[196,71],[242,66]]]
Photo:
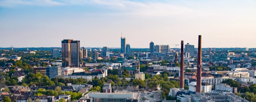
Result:
[[0,47],[255,48],[255,0],[0,0]]

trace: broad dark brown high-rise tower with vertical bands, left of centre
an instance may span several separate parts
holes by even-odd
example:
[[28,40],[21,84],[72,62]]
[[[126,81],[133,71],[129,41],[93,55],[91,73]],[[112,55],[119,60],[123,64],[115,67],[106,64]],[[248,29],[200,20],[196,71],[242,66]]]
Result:
[[80,62],[80,41],[62,40],[61,41],[62,66],[79,67]]

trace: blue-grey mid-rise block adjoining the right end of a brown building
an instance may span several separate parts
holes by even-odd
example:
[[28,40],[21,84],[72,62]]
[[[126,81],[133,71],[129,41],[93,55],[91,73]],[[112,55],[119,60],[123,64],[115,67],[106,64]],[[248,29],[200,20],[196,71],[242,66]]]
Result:
[[61,75],[61,68],[60,67],[51,67],[51,65],[46,67],[46,76],[48,76],[49,79],[58,77],[60,75]]

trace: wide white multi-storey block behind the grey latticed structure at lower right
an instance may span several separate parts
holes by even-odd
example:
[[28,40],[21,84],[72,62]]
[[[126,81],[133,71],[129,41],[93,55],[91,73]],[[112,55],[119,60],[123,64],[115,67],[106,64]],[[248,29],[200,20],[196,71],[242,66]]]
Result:
[[226,83],[220,83],[220,84],[214,84],[214,90],[215,91],[226,91],[226,92],[237,92],[237,87],[230,87]]

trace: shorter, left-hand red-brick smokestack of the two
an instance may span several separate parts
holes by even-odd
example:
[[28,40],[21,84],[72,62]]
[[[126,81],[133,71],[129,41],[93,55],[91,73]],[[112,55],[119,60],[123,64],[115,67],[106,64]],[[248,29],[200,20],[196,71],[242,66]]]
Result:
[[184,90],[184,42],[181,41],[180,53],[180,90]]

